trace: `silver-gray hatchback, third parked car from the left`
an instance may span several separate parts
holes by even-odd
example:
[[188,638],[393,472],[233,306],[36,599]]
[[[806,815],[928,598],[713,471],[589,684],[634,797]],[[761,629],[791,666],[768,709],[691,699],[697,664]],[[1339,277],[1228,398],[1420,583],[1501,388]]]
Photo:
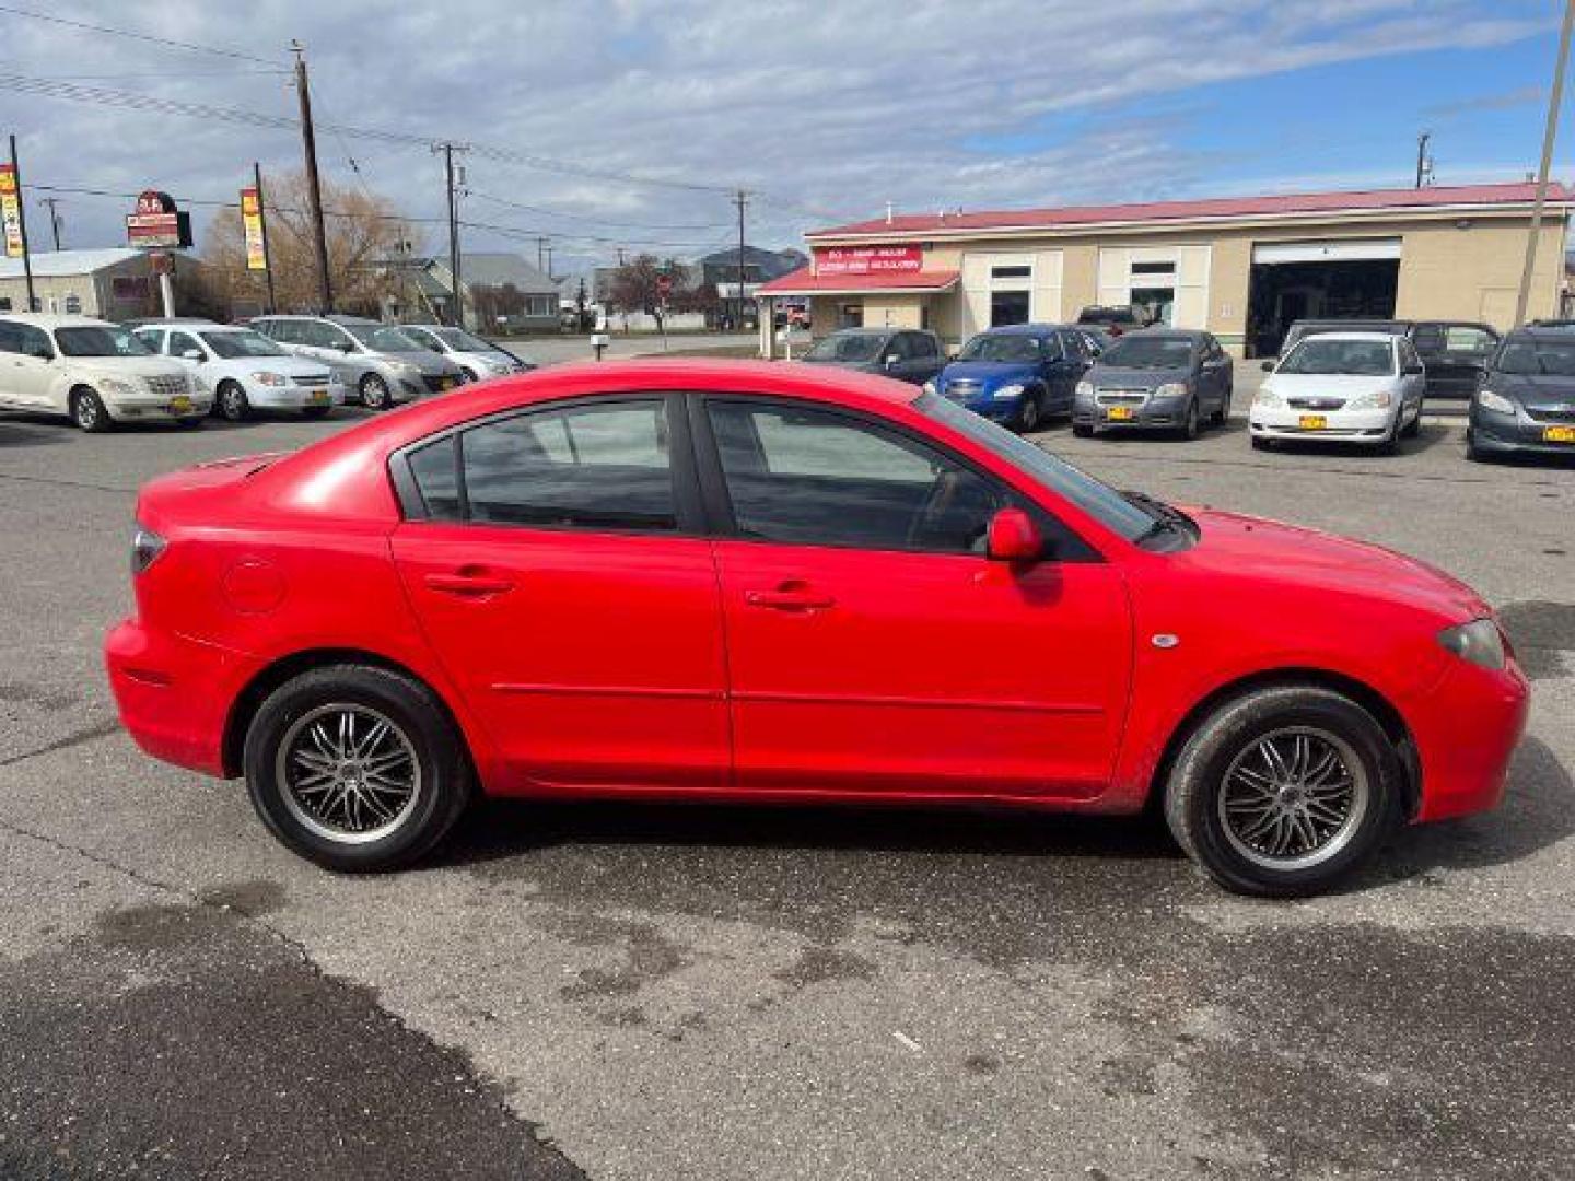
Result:
[[258,317],[250,324],[290,353],[323,361],[369,409],[387,409],[465,381],[460,367],[397,328],[361,317]]

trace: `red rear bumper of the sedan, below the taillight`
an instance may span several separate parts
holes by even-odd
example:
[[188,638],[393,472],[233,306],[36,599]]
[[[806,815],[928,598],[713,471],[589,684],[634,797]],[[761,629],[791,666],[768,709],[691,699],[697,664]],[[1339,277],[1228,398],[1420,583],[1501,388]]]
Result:
[[104,638],[104,665],[120,721],[142,750],[205,775],[225,773],[230,705],[260,660],[128,619]]

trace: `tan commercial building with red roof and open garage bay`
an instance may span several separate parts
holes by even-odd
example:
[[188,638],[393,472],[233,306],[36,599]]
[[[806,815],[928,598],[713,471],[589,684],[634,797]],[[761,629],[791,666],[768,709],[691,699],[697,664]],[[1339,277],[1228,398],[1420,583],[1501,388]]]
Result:
[[[1301,318],[1512,328],[1534,184],[1323,192],[999,213],[896,214],[805,235],[808,268],[761,288],[808,298],[816,335],[1066,323],[1090,305],[1208,329],[1268,356]],[[1561,313],[1572,194],[1548,187],[1528,318]],[[769,317],[762,317],[770,323]]]

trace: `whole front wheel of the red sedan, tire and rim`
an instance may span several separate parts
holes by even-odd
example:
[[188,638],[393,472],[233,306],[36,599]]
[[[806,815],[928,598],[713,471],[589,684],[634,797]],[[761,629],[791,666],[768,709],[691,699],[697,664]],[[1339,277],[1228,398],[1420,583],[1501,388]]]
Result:
[[1354,701],[1315,685],[1265,688],[1191,734],[1166,787],[1166,820],[1228,890],[1315,894],[1394,830],[1402,779],[1394,743]]

